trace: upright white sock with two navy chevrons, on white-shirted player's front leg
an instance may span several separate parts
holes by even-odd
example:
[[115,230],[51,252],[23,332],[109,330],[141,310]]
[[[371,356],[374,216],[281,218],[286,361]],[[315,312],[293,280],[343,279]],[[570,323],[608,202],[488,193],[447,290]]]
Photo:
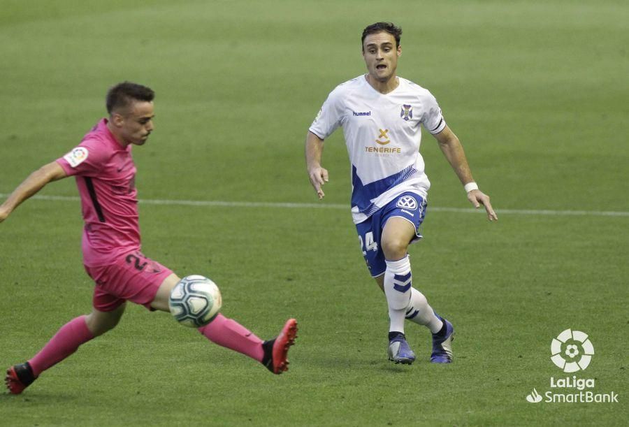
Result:
[[389,332],[404,333],[404,319],[410,304],[412,275],[408,255],[398,261],[386,261],[384,295],[389,305]]

